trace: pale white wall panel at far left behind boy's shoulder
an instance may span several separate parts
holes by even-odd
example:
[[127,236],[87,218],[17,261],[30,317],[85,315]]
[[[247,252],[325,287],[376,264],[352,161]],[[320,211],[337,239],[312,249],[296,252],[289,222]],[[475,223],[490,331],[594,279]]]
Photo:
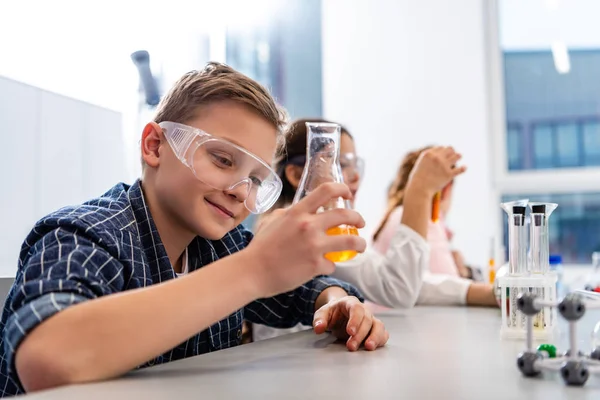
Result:
[[36,220],[127,181],[121,114],[0,77],[0,276]]

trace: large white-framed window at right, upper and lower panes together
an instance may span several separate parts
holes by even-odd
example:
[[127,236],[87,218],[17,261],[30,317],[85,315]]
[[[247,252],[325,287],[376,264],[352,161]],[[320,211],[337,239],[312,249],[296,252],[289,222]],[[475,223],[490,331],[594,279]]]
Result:
[[[494,127],[495,143],[505,146],[496,198],[558,203],[550,251],[589,264],[600,250],[600,26],[592,17],[600,2],[490,4],[498,25],[489,46],[500,50],[491,79],[501,82],[492,95],[505,112]],[[506,218],[497,221],[506,243]]]

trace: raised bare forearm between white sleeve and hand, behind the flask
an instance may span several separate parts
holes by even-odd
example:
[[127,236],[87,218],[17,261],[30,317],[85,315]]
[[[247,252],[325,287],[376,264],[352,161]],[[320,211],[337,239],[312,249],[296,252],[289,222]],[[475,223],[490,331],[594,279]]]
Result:
[[433,192],[415,182],[408,184],[404,194],[402,224],[408,226],[423,238],[427,238],[433,195]]

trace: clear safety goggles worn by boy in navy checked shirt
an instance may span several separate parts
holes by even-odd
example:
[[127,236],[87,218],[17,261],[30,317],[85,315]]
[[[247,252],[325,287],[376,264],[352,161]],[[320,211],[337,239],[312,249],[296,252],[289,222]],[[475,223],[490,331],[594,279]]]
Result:
[[158,125],[177,158],[199,181],[235,191],[251,213],[264,213],[279,198],[282,184],[275,171],[246,149],[191,126],[169,121]]

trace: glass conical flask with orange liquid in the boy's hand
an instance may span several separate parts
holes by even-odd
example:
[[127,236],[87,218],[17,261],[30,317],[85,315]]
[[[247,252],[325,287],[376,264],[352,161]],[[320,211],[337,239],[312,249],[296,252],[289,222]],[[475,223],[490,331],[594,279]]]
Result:
[[[297,203],[319,185],[327,182],[343,182],[342,169],[339,163],[341,127],[337,124],[307,122],[306,123],[306,164],[296,190],[294,203]],[[322,207],[319,211],[336,208],[352,208],[348,200],[339,197]],[[353,226],[337,226],[327,230],[328,235],[357,235]],[[333,262],[348,261],[356,256],[354,250],[327,253],[325,257]]]

